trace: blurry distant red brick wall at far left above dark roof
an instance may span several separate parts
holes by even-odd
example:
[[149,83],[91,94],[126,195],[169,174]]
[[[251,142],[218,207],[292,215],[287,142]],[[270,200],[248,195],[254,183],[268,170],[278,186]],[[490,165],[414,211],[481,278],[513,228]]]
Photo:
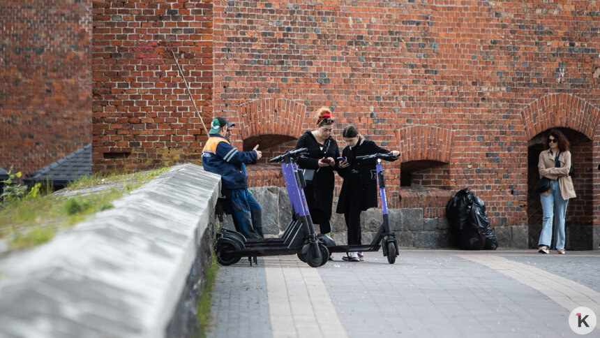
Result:
[[91,0],[0,5],[0,167],[32,173],[91,142]]

